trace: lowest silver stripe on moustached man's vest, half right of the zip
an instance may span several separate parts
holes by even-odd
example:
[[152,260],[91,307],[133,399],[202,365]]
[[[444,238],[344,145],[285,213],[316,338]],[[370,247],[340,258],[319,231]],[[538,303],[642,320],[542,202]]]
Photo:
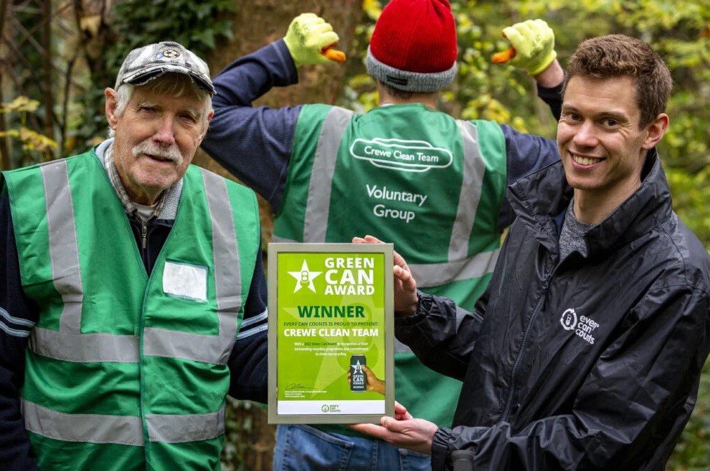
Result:
[[185,443],[210,440],[224,433],[224,406],[207,414],[146,414],[148,438],[153,442]]

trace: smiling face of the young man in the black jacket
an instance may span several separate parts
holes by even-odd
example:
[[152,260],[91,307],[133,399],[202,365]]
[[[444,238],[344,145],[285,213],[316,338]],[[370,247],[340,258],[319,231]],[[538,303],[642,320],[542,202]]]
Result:
[[640,115],[633,78],[569,79],[557,147],[581,221],[599,222],[584,217],[585,206],[596,209],[592,219],[599,219],[640,187],[645,155],[662,138],[668,123],[662,113],[640,128]]

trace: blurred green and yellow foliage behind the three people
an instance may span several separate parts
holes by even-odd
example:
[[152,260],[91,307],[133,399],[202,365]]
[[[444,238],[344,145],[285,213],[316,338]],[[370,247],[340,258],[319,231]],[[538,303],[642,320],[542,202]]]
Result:
[[[364,72],[363,60],[369,34],[384,3],[363,0],[363,19],[354,48],[349,51],[348,82],[341,97],[341,104],[352,109],[366,110],[376,104],[374,84]],[[219,38],[231,38],[229,13],[238,8],[238,0],[117,1],[111,10],[110,33],[114,40],[102,50],[97,62],[89,65],[89,77],[77,79],[81,93],[72,96],[67,131],[76,141],[75,148],[83,150],[105,135],[102,92],[107,84],[113,84],[129,50],[155,40],[171,39],[206,55]],[[513,67],[491,64],[493,52],[508,47],[501,36],[503,27],[531,18],[545,19],[555,31],[563,67],[581,40],[607,33],[635,36],[660,52],[674,78],[674,92],[667,110],[671,124],[659,145],[660,155],[675,210],[710,248],[708,0],[452,0],[452,9],[459,29],[459,72],[452,87],[442,94],[442,109],[461,118],[509,123],[520,131],[550,138],[555,136],[556,122],[547,106],[534,98],[535,82]],[[18,20],[28,24],[36,21],[31,16]],[[27,71],[19,79],[23,81],[25,94],[38,99],[40,92],[33,70],[41,58],[33,50],[24,52],[23,66]],[[26,120],[22,115],[22,119],[15,121],[15,127],[32,128],[32,123],[32,119]],[[42,132],[39,126],[34,131]],[[55,157],[65,157],[73,150],[62,148]],[[16,158],[18,165],[33,160],[38,157],[31,153]],[[696,409],[669,462],[669,470],[710,470],[709,408],[710,367],[706,365]],[[229,414],[225,450],[229,465],[225,469],[239,469],[239,456],[246,448],[234,438],[239,437],[240,428],[250,427],[248,420],[239,421]]]

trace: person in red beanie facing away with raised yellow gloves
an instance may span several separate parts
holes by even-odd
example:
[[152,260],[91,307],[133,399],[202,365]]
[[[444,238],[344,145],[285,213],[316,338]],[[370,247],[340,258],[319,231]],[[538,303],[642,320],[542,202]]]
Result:
[[[540,88],[541,96],[559,111],[555,86],[564,74],[552,30],[537,20],[504,31],[518,50],[513,65],[552,87]],[[215,115],[202,148],[271,203],[273,240],[347,242],[362,233],[397,240],[425,292],[473,309],[498,257],[501,227],[510,223],[510,211],[501,216],[506,184],[557,161],[554,142],[437,111],[457,67],[446,0],[392,0],[383,9],[367,55],[378,80],[376,109],[251,106],[271,87],[296,83],[299,65],[327,62],[322,48],[337,39],[306,13],[284,40],[229,65],[214,79]],[[395,379],[399,401],[451,425],[461,382],[428,369],[401,343]],[[279,426],[274,455],[281,471],[430,467],[428,456],[334,426]]]

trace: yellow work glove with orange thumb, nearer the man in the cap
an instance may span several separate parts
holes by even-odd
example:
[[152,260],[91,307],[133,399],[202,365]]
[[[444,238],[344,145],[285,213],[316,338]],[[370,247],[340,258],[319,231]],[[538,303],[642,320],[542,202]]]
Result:
[[315,13],[301,13],[291,21],[283,42],[293,57],[293,63],[300,67],[331,60],[343,62],[345,54],[332,49],[338,39],[333,27],[323,18]]

